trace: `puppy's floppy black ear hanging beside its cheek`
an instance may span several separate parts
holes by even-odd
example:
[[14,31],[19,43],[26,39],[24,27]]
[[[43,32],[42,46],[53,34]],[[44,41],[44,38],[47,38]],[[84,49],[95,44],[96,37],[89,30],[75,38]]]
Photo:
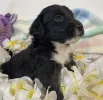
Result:
[[39,15],[30,27],[30,35],[34,36],[34,38],[40,38],[44,33],[43,18],[42,15]]

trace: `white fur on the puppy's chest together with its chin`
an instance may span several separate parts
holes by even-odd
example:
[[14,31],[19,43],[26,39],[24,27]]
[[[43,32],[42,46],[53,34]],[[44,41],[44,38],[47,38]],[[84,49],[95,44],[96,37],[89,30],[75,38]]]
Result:
[[[71,40],[66,41],[66,44],[72,44],[77,42],[80,39],[80,37],[76,37],[73,38]],[[66,44],[61,44],[59,42],[53,42],[54,46],[55,46],[55,51],[57,51],[57,53],[53,53],[52,55],[52,60],[62,64],[62,66],[64,67],[64,64],[66,62],[69,62],[69,54],[73,53],[72,48],[70,47],[70,45],[66,45]]]

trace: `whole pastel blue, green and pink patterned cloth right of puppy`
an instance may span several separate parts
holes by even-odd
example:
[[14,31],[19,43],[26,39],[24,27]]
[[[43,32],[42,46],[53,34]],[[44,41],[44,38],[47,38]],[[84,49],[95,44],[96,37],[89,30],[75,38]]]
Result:
[[85,9],[74,9],[74,16],[84,25],[85,34],[74,45],[77,52],[103,53],[103,20]]

